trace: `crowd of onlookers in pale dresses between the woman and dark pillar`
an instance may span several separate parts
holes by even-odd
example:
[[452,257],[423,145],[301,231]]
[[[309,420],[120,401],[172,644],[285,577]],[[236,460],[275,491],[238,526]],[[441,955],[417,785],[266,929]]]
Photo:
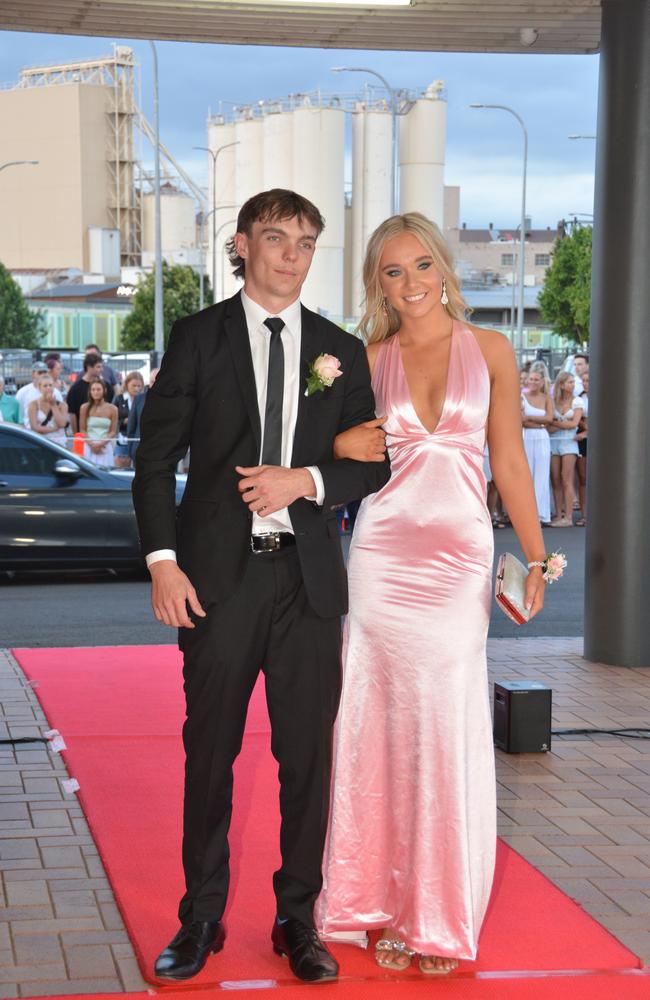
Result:
[[[520,372],[521,422],[528,465],[543,526],[570,528],[587,523],[587,435],[589,355],[579,353],[552,383],[543,361]],[[509,523],[492,480],[486,452],[488,509],[495,528]],[[578,517],[574,519],[574,511]]]

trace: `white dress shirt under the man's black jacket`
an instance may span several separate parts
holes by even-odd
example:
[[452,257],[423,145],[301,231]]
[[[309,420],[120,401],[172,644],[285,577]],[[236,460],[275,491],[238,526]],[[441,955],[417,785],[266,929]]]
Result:
[[[241,292],[241,301],[246,316],[246,326],[248,328],[248,339],[251,347],[253,359],[253,372],[255,374],[255,386],[257,389],[257,406],[260,413],[260,423],[262,427],[262,443],[258,462],[262,461],[262,449],[264,448],[264,414],[266,413],[266,379],[269,367],[269,346],[271,331],[264,325],[264,320],[273,315],[269,313],[259,303],[254,302],[244,291]],[[284,321],[284,327],[280,334],[282,347],[284,350],[284,391],[282,395],[282,465],[291,466],[291,454],[293,452],[293,439],[296,429],[296,419],[298,416],[298,394],[300,392],[300,337],[301,337],[301,309],[300,300],[296,299],[290,306],[276,313],[279,319]],[[314,496],[306,497],[317,504],[322,504],[325,498],[325,485],[320,469],[317,466],[306,466],[311,473],[316,486]],[[243,503],[243,501],[242,501]],[[293,532],[289,510],[283,507],[275,511],[268,517],[260,517],[253,514],[252,533],[263,535],[275,531]],[[160,559],[176,559],[173,549],[157,549],[150,552],[146,557],[147,566],[151,566]]]

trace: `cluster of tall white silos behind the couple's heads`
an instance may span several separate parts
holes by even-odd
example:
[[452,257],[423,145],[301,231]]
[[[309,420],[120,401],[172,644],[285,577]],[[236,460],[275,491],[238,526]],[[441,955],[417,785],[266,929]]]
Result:
[[[447,104],[441,82],[423,93],[400,92],[397,108],[400,207],[424,212],[440,226],[444,210]],[[345,115],[352,115],[352,190],[346,201]],[[326,220],[303,289],[307,306],[333,319],[359,315],[361,266],[368,237],[392,213],[392,115],[385,97],[296,94],[222,110],[208,121],[210,213],[216,233],[217,298],[235,279],[223,253],[237,208],[257,191],[293,188],[314,201]],[[212,189],[215,197],[213,200]],[[347,216],[347,217],[346,217]],[[209,259],[212,260],[212,224]]]

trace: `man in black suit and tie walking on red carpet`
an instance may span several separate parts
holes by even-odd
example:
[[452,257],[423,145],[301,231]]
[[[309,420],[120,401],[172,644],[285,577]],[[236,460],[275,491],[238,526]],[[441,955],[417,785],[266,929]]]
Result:
[[[380,489],[389,465],[372,424],[367,462],[333,459],[336,435],[375,414],[361,342],[300,304],[323,225],[291,191],[243,206],[228,246],[243,291],[174,325],[142,415],[133,496],[154,612],[180,628],[187,702],[187,888],[181,929],[156,963],[164,979],[190,978],[223,947],[232,766],[260,670],[281,788],[273,947],[300,979],[338,973],[312,916],[347,610],[333,508]],[[330,368],[308,393],[322,355],[340,374]],[[177,517],[174,470],[188,445]]]

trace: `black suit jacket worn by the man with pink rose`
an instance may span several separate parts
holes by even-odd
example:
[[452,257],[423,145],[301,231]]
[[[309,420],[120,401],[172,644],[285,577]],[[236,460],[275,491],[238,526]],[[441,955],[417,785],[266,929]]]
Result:
[[[302,307],[300,385],[292,467],[316,465],[322,507],[289,507],[312,608],[321,617],[347,611],[347,581],[333,508],[380,489],[382,462],[335,461],[334,438],[372,420],[374,397],[360,340]],[[305,396],[308,366],[333,354],[343,372]],[[137,397],[136,397],[137,399]],[[244,308],[239,294],[174,324],[141,419],[133,483],[144,553],[175,549],[202,602],[221,602],[238,586],[250,554],[252,515],[237,489],[235,466],[259,464],[261,423]],[[190,470],[178,510],[174,473],[190,446]],[[260,556],[259,558],[264,558]]]

